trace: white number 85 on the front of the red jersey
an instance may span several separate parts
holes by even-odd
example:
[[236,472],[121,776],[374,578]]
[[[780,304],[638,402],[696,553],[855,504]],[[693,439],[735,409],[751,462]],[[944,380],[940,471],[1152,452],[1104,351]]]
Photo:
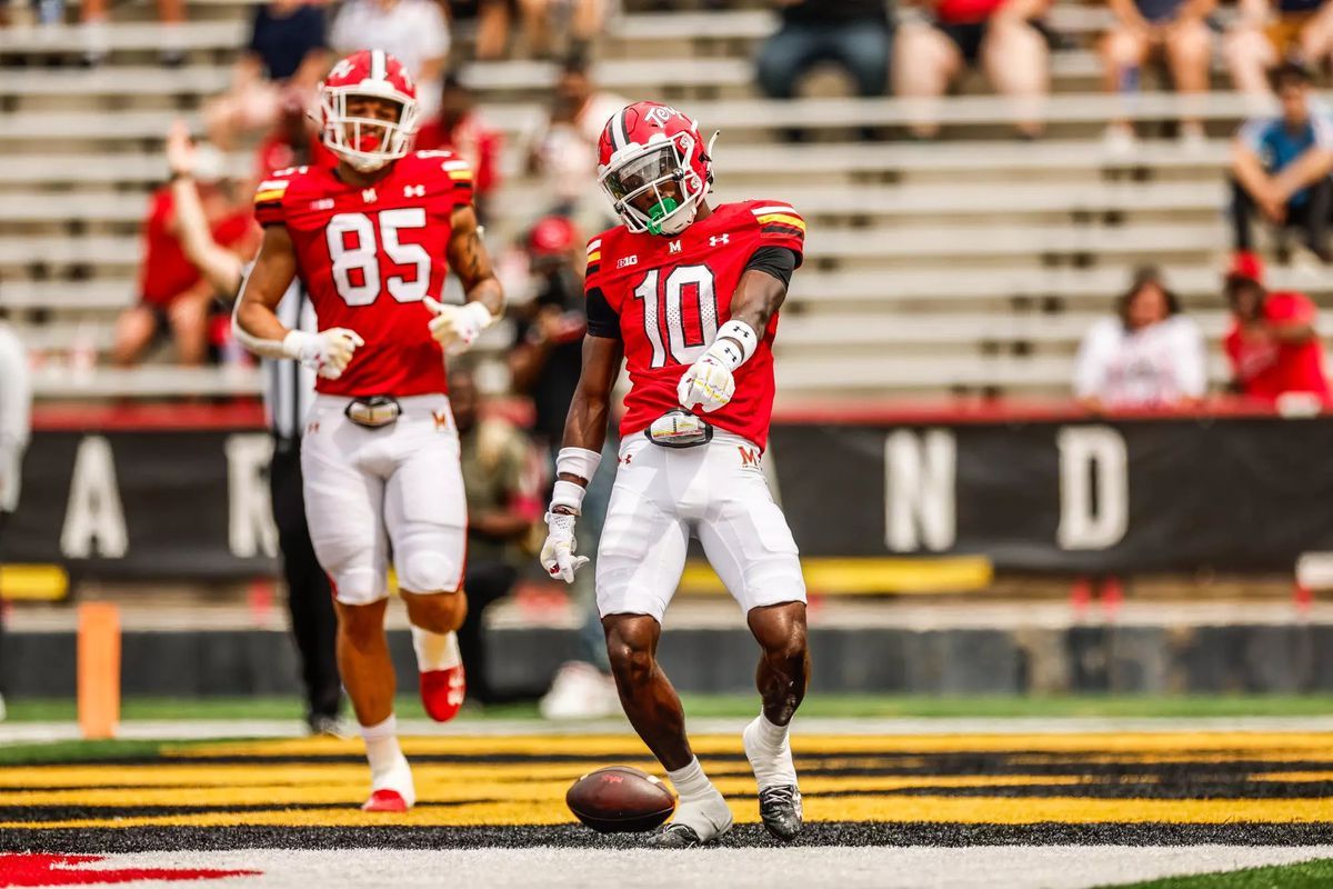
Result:
[[[420,303],[431,285],[431,255],[420,244],[399,243],[399,232],[405,228],[425,228],[425,211],[420,207],[381,211],[379,239],[375,228],[375,221],[365,213],[339,213],[329,220],[325,232],[339,296],[348,305],[375,303],[380,296],[379,247],[383,247],[395,265],[416,267],[416,275],[411,279],[391,275],[383,281],[384,288],[399,303]],[[348,243],[353,247],[348,247]]]

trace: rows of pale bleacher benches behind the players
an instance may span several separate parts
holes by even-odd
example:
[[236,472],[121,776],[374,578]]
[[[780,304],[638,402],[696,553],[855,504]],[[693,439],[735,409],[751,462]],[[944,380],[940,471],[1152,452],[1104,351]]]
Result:
[[[116,313],[135,297],[139,224],[147,193],[165,172],[161,140],[184,115],[199,127],[203,100],[221,89],[245,36],[247,4],[191,4],[181,71],[151,67],[160,29],[151,7],[131,3],[109,27],[112,53],[95,71],[27,67],[0,80],[0,311],[49,360],[37,384],[49,397],[164,393],[160,368],[111,375],[64,372],[75,339],[104,351]],[[792,103],[758,99],[746,61],[774,17],[762,9],[629,13],[609,27],[597,75],[631,97],[678,101],[705,129],[722,128],[720,200],[780,196],[810,224],[809,263],[794,280],[778,341],[784,399],[886,392],[1062,393],[1088,324],[1109,309],[1145,261],[1169,281],[1216,345],[1225,324],[1217,296],[1228,247],[1226,137],[1246,103],[1221,91],[1192,105],[1212,139],[1188,148],[1149,137],[1129,157],[1102,145],[1120,115],[1149,133],[1181,109],[1177,97],[1145,92],[1125,104],[1094,92],[1092,40],[1105,9],[1057,5],[1050,24],[1072,48],[1053,53],[1053,95],[1042,105],[1049,136],[1014,141],[1018,111],[969,81],[936,107],[937,144],[904,141],[920,104],[818,95]],[[128,21],[127,21],[128,19]],[[137,19],[137,20],[136,20]],[[0,55],[77,48],[73,28],[0,32]],[[511,147],[544,103],[552,65],[477,63],[464,68],[487,117]],[[833,87],[836,92],[837,87]],[[802,128],[802,144],[781,141]],[[881,143],[856,140],[876,127]],[[229,157],[236,175],[245,152]],[[499,245],[540,205],[520,152],[495,201]],[[1277,269],[1276,279],[1317,300],[1333,297],[1333,275]],[[77,333],[77,337],[76,337]],[[488,343],[503,345],[503,331]],[[885,353],[884,349],[889,349]],[[1222,367],[1214,351],[1212,371]],[[236,392],[249,375],[201,371],[195,392]]]

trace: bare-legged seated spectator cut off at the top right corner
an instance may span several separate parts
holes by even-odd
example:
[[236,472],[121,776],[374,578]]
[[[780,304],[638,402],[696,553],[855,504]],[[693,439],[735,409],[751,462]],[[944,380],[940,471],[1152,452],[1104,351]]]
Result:
[[1222,55],[1244,93],[1268,95],[1269,72],[1284,61],[1322,63],[1333,48],[1333,4],[1325,0],[1240,0]]

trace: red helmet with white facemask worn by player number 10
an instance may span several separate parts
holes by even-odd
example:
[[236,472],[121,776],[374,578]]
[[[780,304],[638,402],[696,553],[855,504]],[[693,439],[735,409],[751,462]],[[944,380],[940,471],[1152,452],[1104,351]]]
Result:
[[[637,101],[612,115],[597,140],[597,184],[629,231],[678,235],[713,184],[712,147],[674,108]],[[674,188],[664,193],[666,183]]]

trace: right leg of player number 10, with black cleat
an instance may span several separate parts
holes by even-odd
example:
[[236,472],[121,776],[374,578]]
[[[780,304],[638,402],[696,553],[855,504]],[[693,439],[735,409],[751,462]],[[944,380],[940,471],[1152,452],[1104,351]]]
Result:
[[760,714],[745,728],[760,816],[769,833],[790,840],[801,829],[801,794],[792,762],[792,717],[805,697],[809,650],[805,581],[782,510],[773,502],[758,449],[734,439],[709,450],[712,502],[698,525],[708,561],[745,609],[761,654],[756,682]]

